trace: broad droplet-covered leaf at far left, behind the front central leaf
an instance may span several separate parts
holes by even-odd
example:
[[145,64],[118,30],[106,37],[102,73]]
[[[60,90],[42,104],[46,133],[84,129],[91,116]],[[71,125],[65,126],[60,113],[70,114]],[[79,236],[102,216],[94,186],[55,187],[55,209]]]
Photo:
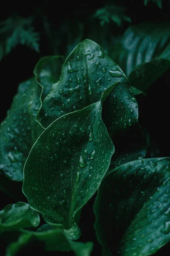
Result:
[[11,110],[0,126],[0,170],[11,180],[23,181],[23,166],[43,129],[36,122],[41,87],[34,78],[21,83]]

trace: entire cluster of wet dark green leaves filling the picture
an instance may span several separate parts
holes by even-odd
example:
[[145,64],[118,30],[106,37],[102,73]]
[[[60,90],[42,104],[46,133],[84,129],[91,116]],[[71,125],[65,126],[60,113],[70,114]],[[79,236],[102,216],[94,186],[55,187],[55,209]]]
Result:
[[[103,25],[128,21],[122,8],[94,16]],[[170,157],[148,157],[138,123],[141,99],[170,70],[169,27],[131,26],[108,53],[86,39],[65,61],[41,58],[19,84],[0,126],[0,190],[17,201],[0,211],[4,255],[33,244],[91,255],[96,244],[82,239],[81,217],[95,193],[103,255],[147,256],[170,241]]]

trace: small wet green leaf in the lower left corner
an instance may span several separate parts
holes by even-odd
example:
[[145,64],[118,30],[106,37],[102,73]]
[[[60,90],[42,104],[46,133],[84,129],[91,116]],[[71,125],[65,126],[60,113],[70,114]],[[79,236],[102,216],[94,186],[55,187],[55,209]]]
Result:
[[37,227],[39,224],[39,214],[26,203],[9,204],[0,211],[0,230]]

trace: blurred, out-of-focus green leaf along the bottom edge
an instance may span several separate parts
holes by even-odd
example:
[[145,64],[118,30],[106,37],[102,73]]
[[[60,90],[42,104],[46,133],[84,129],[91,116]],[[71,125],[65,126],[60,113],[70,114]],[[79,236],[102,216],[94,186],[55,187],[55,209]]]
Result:
[[[70,251],[73,250],[76,256],[90,256],[93,250],[92,242],[76,242],[68,239],[62,229],[49,229],[44,232],[25,231],[17,241],[12,242],[6,249],[6,256],[15,256],[25,248],[38,247],[40,252],[46,251]],[[26,252],[25,251],[25,252]]]

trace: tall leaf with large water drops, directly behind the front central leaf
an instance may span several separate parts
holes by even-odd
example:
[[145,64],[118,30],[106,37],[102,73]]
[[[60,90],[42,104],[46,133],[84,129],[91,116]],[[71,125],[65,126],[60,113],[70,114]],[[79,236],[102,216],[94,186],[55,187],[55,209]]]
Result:
[[[98,44],[86,39],[71,52],[62,67],[59,82],[52,87],[40,111],[40,122],[46,127],[65,113],[97,102],[105,88],[116,81],[119,84],[108,96],[102,115],[113,143],[118,145],[112,168],[120,161],[125,163],[144,157],[146,143],[137,123],[138,105],[133,90],[123,71]],[[135,140],[131,139],[133,134],[136,134]],[[122,152],[125,144],[132,144],[132,151],[125,148]]]

